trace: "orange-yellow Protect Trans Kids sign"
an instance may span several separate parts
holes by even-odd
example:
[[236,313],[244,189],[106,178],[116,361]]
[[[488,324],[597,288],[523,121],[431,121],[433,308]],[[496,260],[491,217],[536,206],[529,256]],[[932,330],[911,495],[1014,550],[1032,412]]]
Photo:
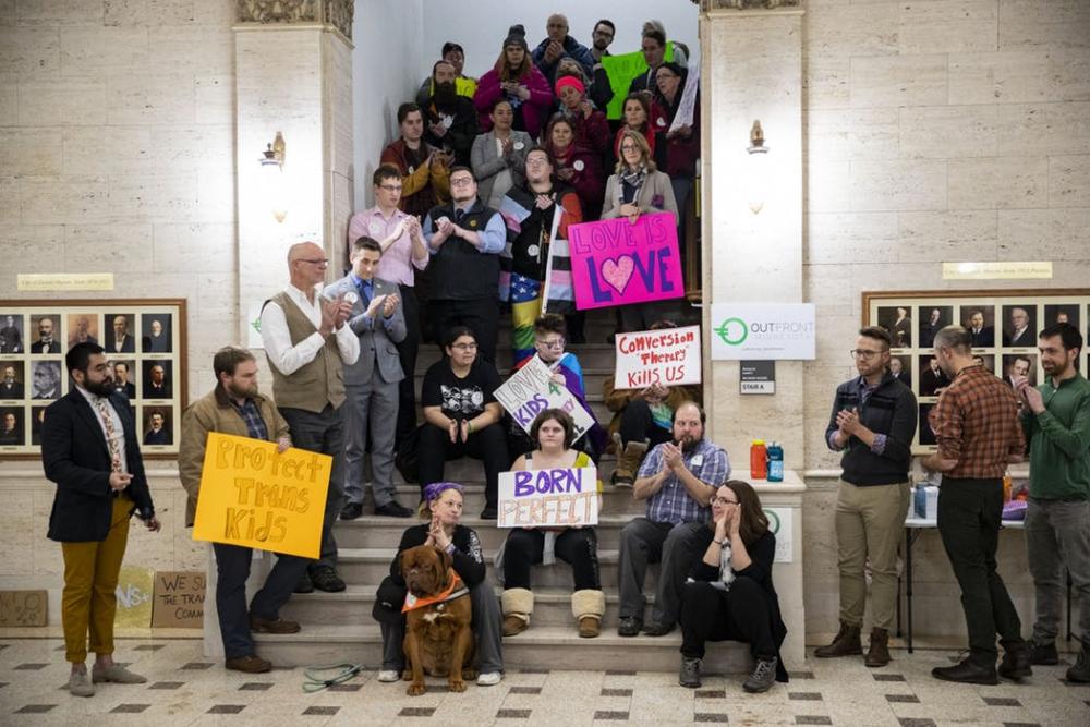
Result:
[[193,540],[317,558],[332,458],[210,432]]

